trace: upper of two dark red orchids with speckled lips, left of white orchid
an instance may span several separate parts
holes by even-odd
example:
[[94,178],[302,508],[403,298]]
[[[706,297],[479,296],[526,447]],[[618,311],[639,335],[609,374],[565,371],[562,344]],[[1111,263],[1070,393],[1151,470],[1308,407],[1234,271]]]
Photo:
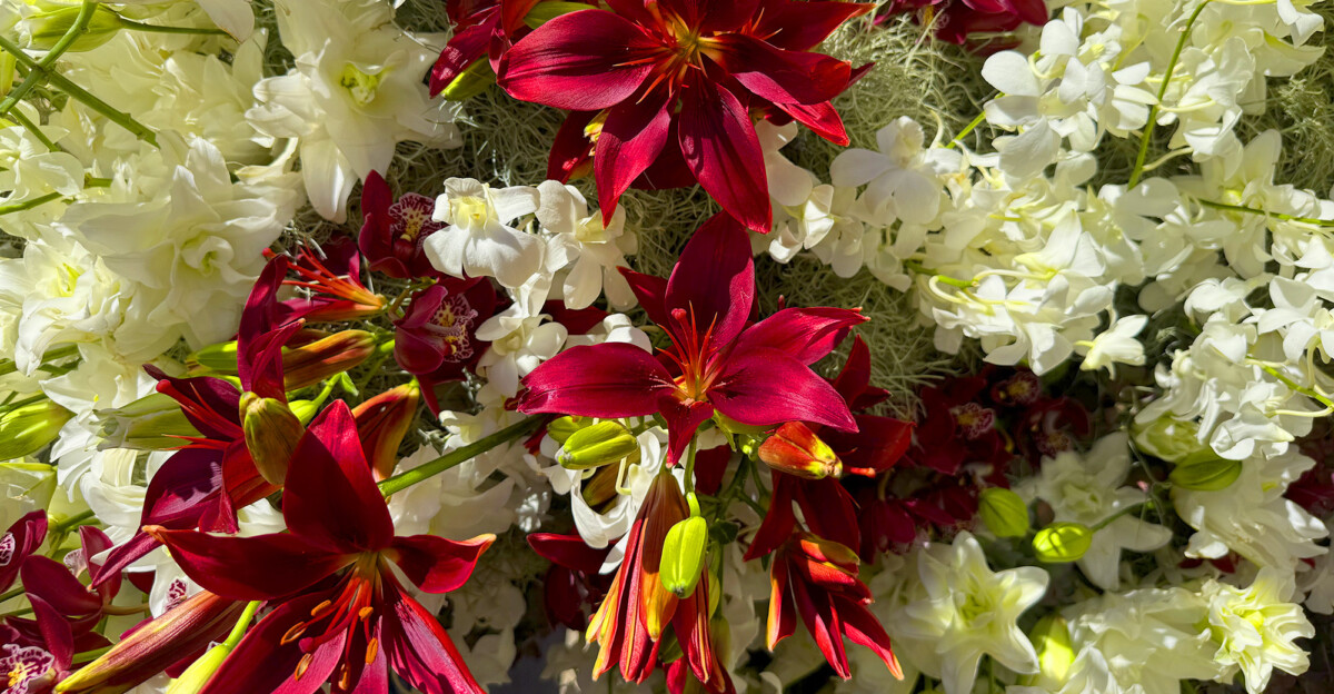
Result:
[[394,200],[390,184],[372,171],[362,183],[364,222],[358,238],[371,270],[399,279],[443,276],[423,250],[426,238],[444,228],[431,219],[434,214],[435,200],[424,195],[408,192]]

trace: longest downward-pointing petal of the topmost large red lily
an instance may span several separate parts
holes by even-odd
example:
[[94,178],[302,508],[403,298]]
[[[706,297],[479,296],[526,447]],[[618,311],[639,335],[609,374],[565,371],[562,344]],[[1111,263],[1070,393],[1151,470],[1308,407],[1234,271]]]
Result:
[[723,87],[706,80],[688,87],[676,132],[686,165],[723,210],[746,228],[767,234],[772,211],[764,153],[750,113]]

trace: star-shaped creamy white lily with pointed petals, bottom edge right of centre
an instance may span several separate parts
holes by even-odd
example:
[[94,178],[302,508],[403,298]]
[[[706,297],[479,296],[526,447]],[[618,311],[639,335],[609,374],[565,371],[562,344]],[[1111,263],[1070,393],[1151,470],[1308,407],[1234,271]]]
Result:
[[1047,591],[1042,569],[992,571],[968,533],[954,545],[931,545],[916,555],[918,597],[895,613],[894,634],[911,641],[910,658],[939,677],[946,694],[968,694],[978,662],[990,655],[1021,674],[1038,671],[1038,654],[1018,619]]

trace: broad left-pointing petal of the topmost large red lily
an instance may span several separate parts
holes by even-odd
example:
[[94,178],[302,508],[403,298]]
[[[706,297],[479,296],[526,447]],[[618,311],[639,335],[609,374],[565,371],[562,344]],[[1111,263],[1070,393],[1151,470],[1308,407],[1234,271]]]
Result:
[[654,64],[627,63],[654,47],[624,17],[582,9],[547,21],[506,51],[496,83],[520,101],[598,111],[639,89]]

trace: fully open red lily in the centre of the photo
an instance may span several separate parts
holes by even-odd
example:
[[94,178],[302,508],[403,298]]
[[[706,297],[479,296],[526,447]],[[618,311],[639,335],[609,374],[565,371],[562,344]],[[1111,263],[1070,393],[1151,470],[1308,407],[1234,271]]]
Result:
[[856,427],[843,398],[810,364],[866,318],[843,308],[784,308],[747,326],[755,266],[746,231],[726,214],[695,232],[668,280],[623,274],[672,347],[658,359],[627,343],[566,350],[524,378],[520,411],[662,414],[672,463],[715,412],[748,426]]

